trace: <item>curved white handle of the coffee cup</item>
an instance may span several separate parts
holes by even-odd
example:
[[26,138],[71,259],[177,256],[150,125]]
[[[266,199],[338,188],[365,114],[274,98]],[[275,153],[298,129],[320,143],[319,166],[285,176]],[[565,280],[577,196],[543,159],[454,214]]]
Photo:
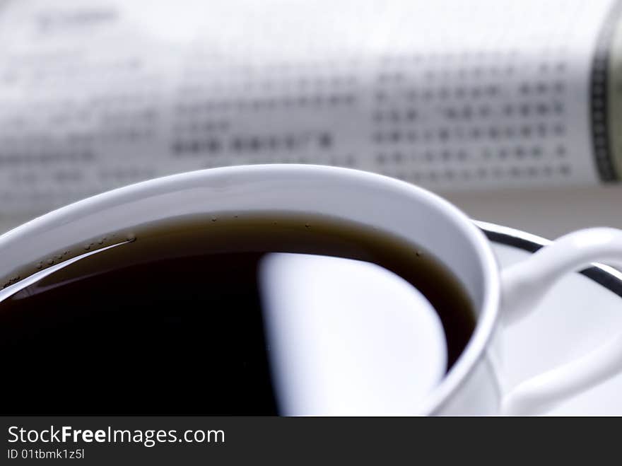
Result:
[[[503,269],[503,323],[511,324],[529,314],[564,274],[588,267],[591,262],[622,265],[622,230],[575,231],[542,247],[529,259]],[[501,413],[539,414],[619,371],[622,371],[622,330],[585,356],[517,385],[503,398]]]

